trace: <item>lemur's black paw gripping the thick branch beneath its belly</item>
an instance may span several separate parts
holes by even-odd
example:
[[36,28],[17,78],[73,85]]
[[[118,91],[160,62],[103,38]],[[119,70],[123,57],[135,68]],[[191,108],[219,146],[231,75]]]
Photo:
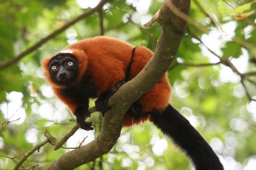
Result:
[[125,83],[126,81],[124,80],[116,82],[111,91],[99,95],[99,98],[95,101],[95,107],[96,111],[101,112],[102,117],[111,109],[111,107],[108,106],[108,99]]

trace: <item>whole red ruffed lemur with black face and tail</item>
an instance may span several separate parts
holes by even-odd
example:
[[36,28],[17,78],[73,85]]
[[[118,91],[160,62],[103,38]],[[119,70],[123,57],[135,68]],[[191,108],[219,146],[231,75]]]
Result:
[[[102,116],[110,110],[108,99],[125,82],[133,79],[147,64],[153,53],[146,47],[133,47],[127,42],[94,37],[81,40],[42,60],[44,75],[58,99],[76,116],[84,130],[93,130],[89,99],[95,101]],[[171,86],[167,73],[125,114],[123,126],[149,120],[180,147],[196,170],[224,170],[209,144],[175,108],[169,104]]]

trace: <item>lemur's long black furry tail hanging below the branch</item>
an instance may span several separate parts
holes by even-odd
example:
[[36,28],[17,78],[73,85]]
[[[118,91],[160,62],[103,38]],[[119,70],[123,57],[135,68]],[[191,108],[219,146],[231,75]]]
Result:
[[150,116],[154,125],[170,136],[173,142],[186,152],[196,170],[224,170],[209,144],[171,105],[163,113],[152,112]]

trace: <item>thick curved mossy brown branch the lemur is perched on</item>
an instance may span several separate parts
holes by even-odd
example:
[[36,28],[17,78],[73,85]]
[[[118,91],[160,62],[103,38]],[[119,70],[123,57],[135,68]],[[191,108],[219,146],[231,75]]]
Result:
[[[172,0],[172,2],[180,11],[189,14],[190,0]],[[105,114],[102,131],[97,138],[85,146],[63,154],[49,166],[35,167],[35,170],[72,170],[82,164],[94,161],[112,149],[120,136],[125,112],[168,70],[187,25],[186,21],[172,13],[165,4],[160,9],[158,22],[163,26],[163,31],[157,41],[154,56],[140,74],[123,85],[109,99],[108,104],[112,109]]]

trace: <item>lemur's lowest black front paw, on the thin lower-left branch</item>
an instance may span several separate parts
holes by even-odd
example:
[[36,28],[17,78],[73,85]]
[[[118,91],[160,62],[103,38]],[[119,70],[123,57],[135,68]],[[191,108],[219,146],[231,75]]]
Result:
[[85,122],[84,121],[84,116],[88,116],[90,117],[90,112],[88,111],[88,108],[84,107],[84,106],[80,106],[76,109],[76,112],[75,112],[75,115],[76,115],[76,123],[79,125],[79,127],[81,129],[84,129],[84,130],[93,130],[93,127],[92,126],[92,122]]

